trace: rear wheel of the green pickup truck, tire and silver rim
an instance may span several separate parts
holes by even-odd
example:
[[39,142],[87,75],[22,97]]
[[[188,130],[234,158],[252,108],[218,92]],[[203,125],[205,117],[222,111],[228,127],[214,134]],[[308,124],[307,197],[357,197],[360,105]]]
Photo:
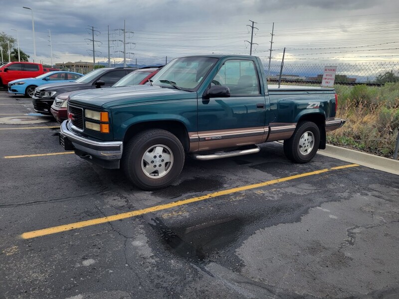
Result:
[[312,122],[300,122],[291,138],[284,141],[284,154],[294,162],[307,163],[316,155],[319,144],[319,127]]

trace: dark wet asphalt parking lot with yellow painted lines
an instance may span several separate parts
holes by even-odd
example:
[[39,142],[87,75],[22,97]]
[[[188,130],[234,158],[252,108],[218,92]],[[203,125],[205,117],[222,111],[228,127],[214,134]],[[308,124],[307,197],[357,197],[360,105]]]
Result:
[[398,175],[271,143],[142,191],[29,99],[1,120],[1,298],[399,298]]

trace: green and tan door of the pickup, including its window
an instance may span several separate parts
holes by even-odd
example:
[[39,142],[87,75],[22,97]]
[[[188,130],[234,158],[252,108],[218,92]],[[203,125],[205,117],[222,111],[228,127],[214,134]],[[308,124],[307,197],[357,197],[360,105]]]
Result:
[[199,99],[199,150],[263,142],[267,136],[266,103],[255,63],[226,60],[210,85],[227,86],[230,97]]

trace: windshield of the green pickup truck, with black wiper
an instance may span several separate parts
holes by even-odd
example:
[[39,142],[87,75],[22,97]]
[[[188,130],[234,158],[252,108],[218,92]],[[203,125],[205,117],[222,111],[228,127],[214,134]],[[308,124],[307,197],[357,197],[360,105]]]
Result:
[[182,57],[172,60],[153,79],[153,85],[196,91],[217,58]]

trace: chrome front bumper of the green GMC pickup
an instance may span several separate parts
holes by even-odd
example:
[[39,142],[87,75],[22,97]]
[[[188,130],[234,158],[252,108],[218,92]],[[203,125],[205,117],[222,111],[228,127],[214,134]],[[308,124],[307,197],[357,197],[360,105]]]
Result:
[[60,141],[62,138],[65,145],[65,139],[67,139],[81,157],[101,160],[120,160],[122,158],[123,142],[121,141],[99,142],[83,137],[71,130],[68,120],[62,122],[60,130]]

